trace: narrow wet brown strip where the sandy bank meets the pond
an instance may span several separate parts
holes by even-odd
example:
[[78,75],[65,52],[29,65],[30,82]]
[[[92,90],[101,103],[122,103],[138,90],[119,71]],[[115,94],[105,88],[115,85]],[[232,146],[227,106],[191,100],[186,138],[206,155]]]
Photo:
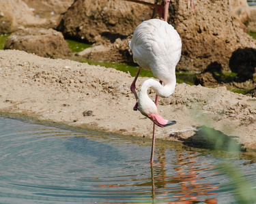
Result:
[[[44,120],[38,120],[38,118],[33,118],[32,116],[27,116],[25,114],[14,114],[14,113],[8,113],[8,112],[0,112],[1,118],[10,118],[12,120],[20,120],[23,122],[29,122],[31,124],[39,124],[43,126],[50,126],[57,129],[64,129],[69,131],[75,131],[77,133],[84,133],[89,134],[89,137],[100,137],[106,139],[106,137],[109,137],[109,135],[114,135],[114,137],[122,137],[122,139],[125,139],[127,141],[132,141],[133,143],[137,143],[139,146],[147,146],[147,143],[151,143],[152,139],[149,137],[136,137],[134,135],[121,135],[117,133],[112,132],[106,132],[99,129],[89,129],[79,126],[70,126],[65,123],[61,122],[53,122],[53,121],[44,121]],[[166,140],[162,138],[156,138],[156,148],[163,148],[172,150],[175,149],[177,152],[184,152],[186,151],[193,151],[193,152],[199,152],[201,155],[211,155],[214,157],[220,157],[220,158],[230,158],[230,157],[236,157],[239,156],[240,158],[244,160],[248,160],[248,163],[255,163],[256,162],[256,150],[248,149],[246,148],[245,151],[227,151],[224,149],[219,150],[212,150],[211,148],[205,148],[203,146],[189,146],[188,144],[184,144],[182,141],[173,141],[173,140]],[[149,158],[150,159],[150,158]]]

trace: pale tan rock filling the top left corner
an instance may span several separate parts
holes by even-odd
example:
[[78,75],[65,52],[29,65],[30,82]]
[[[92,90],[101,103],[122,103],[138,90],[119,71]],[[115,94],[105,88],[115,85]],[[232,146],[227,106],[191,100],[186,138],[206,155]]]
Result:
[[57,27],[74,0],[0,0],[0,33],[27,27]]

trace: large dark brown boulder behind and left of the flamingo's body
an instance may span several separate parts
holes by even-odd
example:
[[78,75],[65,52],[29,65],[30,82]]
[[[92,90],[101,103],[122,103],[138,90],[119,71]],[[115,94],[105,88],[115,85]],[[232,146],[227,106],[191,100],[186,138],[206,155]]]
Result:
[[[154,3],[154,1],[150,1]],[[151,7],[119,0],[77,0],[63,15],[59,31],[64,36],[83,39],[91,44],[125,39],[143,20],[152,18]],[[100,38],[99,38],[100,39]]]

